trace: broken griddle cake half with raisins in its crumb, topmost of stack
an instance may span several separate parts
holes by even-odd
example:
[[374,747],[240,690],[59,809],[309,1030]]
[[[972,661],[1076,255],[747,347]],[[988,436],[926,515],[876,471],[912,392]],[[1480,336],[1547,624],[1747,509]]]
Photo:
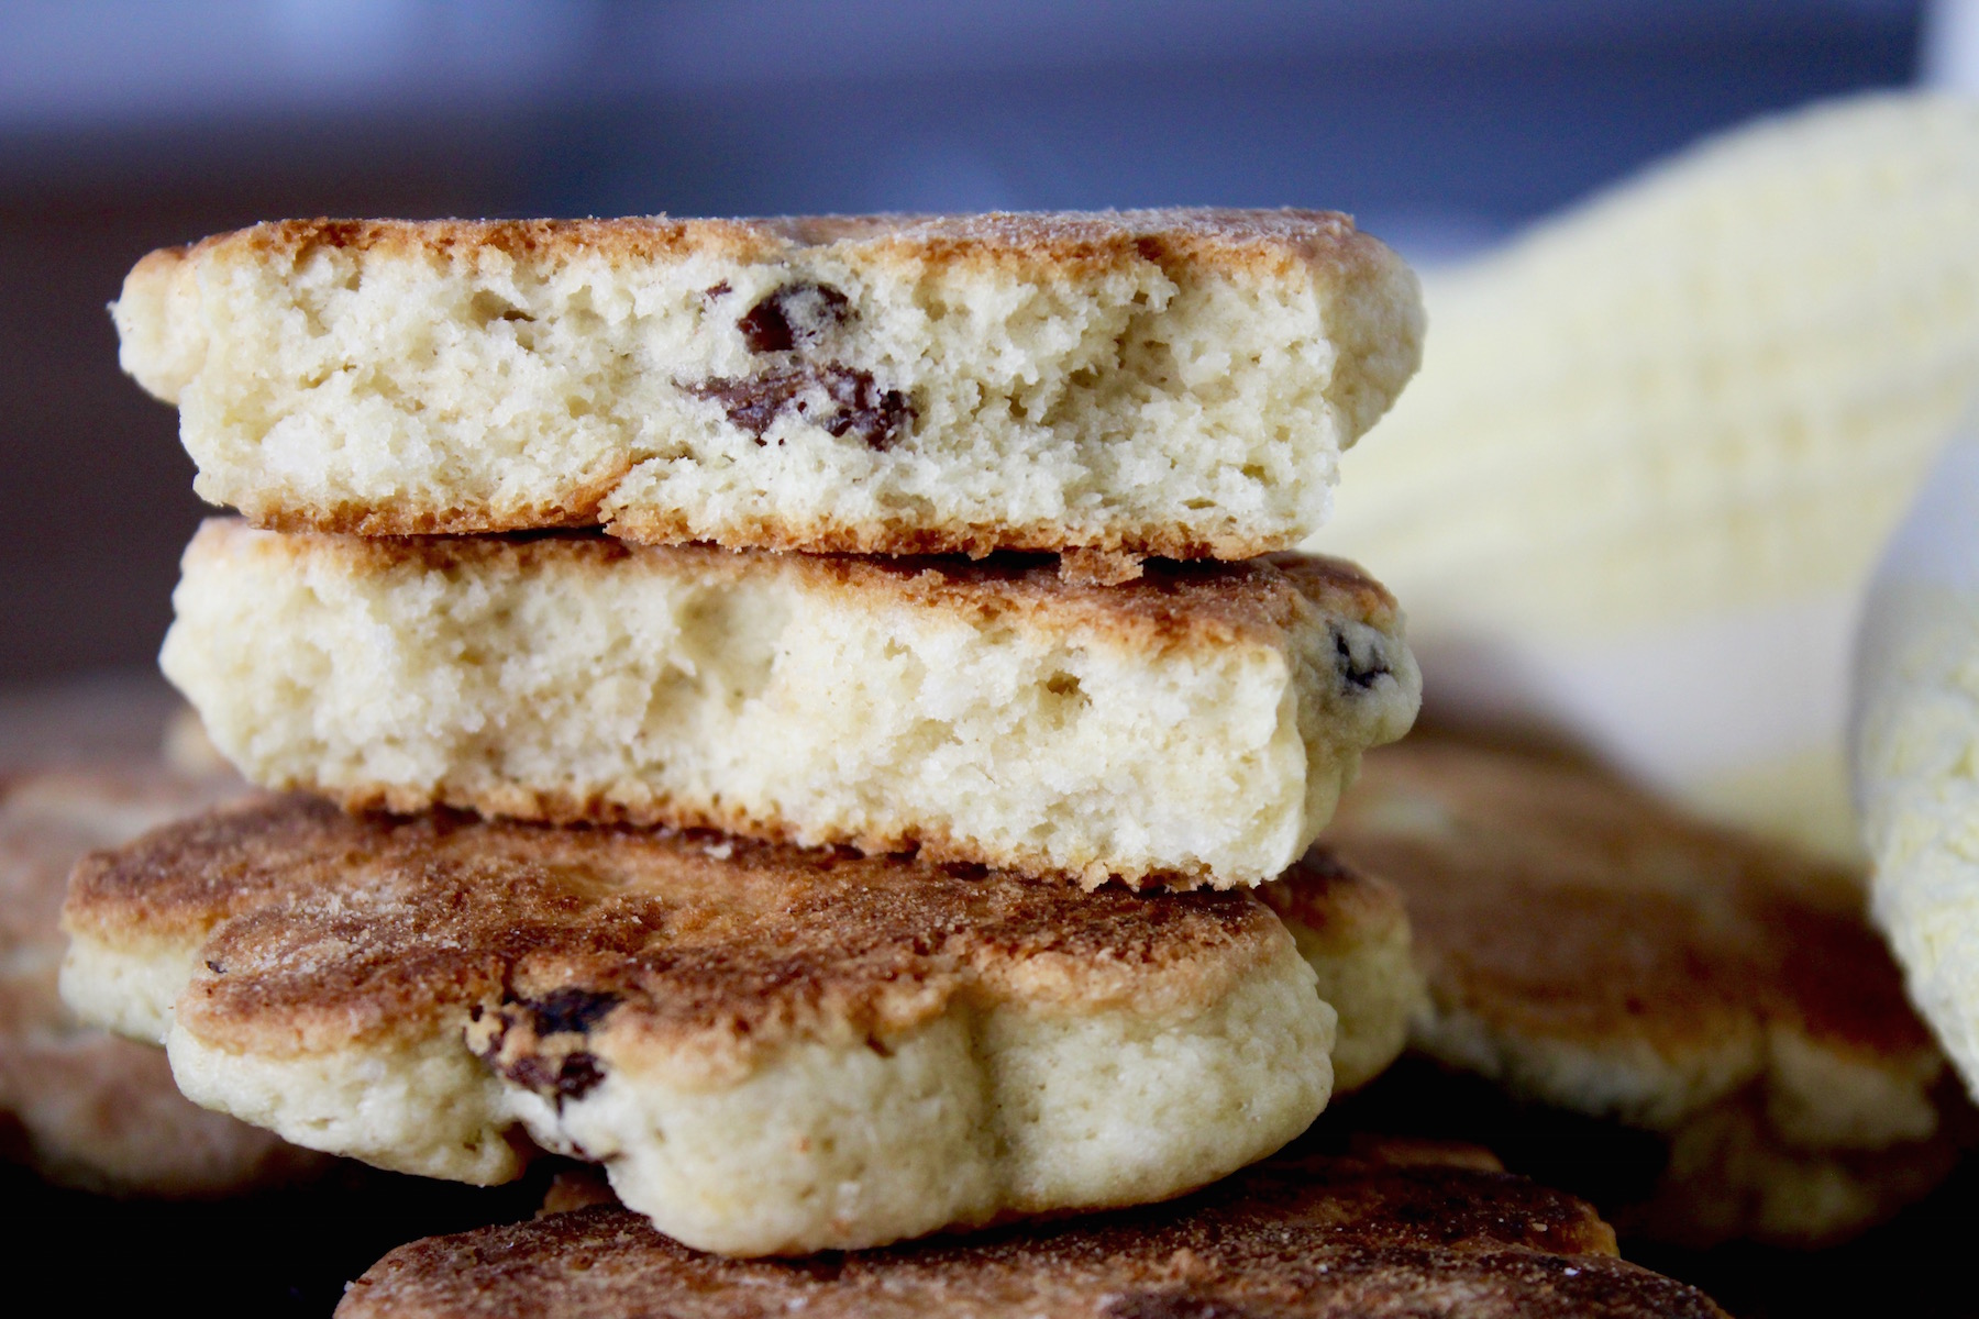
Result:
[[156,251],[123,366],[273,528],[1249,558],[1421,354],[1330,212],[283,221]]

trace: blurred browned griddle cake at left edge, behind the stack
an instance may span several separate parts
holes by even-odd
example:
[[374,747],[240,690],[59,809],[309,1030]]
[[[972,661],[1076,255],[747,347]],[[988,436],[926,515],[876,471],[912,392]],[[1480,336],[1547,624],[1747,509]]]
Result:
[[[49,720],[51,755],[73,728],[69,710]],[[190,1103],[164,1050],[77,1022],[55,993],[57,918],[77,858],[241,791],[232,775],[139,755],[0,775],[0,1155],[53,1183],[139,1196],[243,1192],[323,1165]]]

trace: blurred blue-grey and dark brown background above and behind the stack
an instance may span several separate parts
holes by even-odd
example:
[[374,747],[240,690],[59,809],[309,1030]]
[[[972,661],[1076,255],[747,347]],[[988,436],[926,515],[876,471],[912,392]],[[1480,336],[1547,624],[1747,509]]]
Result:
[[1443,261],[1712,129],[1941,69],[1967,12],[0,2],[0,680],[144,664],[164,631],[200,504],[103,312],[150,247],[319,214],[1233,204]]

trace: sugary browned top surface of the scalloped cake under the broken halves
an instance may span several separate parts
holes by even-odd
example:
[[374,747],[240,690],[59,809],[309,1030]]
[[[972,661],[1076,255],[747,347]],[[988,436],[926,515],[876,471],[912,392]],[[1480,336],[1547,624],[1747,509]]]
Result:
[[63,922],[194,953],[180,1022],[287,1054],[491,1011],[722,1068],[885,1038],[956,995],[1189,1011],[1286,935],[1247,894],[1138,898],[716,835],[348,817],[267,797],[77,866]]

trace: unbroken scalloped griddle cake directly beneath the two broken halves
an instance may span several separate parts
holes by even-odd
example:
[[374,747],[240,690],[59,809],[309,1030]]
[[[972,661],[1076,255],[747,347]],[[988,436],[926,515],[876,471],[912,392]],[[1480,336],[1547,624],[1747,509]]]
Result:
[[[1346,888],[1336,957],[1385,959]],[[190,1098],[479,1183],[526,1129],[726,1254],[1168,1198],[1332,1086],[1336,1012],[1249,892],[283,797],[93,856],[63,920],[63,997]]]

